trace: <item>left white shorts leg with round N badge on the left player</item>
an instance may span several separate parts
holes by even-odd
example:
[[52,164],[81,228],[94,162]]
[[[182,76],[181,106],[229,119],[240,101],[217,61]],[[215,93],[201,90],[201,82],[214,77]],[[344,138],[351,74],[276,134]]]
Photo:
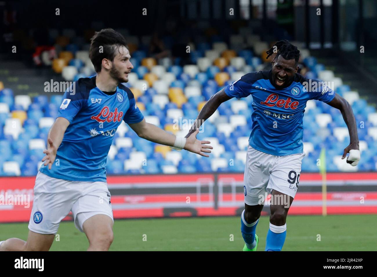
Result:
[[29,230],[38,234],[56,234],[61,220],[69,214],[79,195],[80,191],[73,182],[38,171]]

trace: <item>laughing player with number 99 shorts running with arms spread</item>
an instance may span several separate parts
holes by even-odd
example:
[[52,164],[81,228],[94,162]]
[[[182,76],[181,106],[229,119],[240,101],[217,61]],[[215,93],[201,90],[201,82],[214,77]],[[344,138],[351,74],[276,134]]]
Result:
[[[349,103],[318,80],[307,80],[297,73],[300,52],[287,40],[278,41],[267,51],[276,56],[272,69],[251,72],[213,95],[191,127],[186,138],[209,118],[221,103],[236,97],[253,96],[253,124],[244,173],[245,210],[241,215],[244,251],[256,251],[256,226],[264,205],[265,193],[271,193],[270,230],[266,251],[281,251],[287,233],[286,218],[296,194],[303,153],[303,113],[306,103],[316,99],[339,109],[349,131],[350,143],[342,159],[357,165],[359,139],[354,114]],[[282,199],[282,203],[272,200]]]

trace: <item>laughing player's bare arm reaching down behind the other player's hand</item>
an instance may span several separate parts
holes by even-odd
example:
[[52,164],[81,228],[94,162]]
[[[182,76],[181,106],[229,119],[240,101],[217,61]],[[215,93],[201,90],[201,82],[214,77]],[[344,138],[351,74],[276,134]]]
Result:
[[194,124],[191,126],[190,131],[187,133],[185,138],[188,138],[195,132],[195,130],[199,129],[204,121],[206,121],[215,112],[215,110],[217,110],[220,104],[229,99],[231,99],[231,97],[224,92],[224,89],[213,95],[199,112],[198,117],[195,119]]

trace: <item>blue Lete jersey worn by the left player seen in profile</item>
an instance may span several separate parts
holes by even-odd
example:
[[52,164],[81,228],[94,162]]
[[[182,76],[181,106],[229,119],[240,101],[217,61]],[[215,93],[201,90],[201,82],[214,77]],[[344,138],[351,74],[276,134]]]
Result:
[[115,93],[104,93],[96,77],[81,78],[74,92],[65,92],[57,117],[70,124],[64,133],[51,170],[40,171],[69,181],[106,182],[106,159],[116,129],[124,120],[138,123],[144,116],[129,88],[119,84]]

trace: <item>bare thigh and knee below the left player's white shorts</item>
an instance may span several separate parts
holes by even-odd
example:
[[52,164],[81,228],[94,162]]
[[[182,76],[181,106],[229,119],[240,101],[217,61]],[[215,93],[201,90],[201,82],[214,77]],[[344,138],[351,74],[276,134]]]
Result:
[[[79,214],[79,217],[85,213]],[[113,241],[113,219],[107,214],[95,214],[87,218],[83,223],[83,231],[89,243]]]

